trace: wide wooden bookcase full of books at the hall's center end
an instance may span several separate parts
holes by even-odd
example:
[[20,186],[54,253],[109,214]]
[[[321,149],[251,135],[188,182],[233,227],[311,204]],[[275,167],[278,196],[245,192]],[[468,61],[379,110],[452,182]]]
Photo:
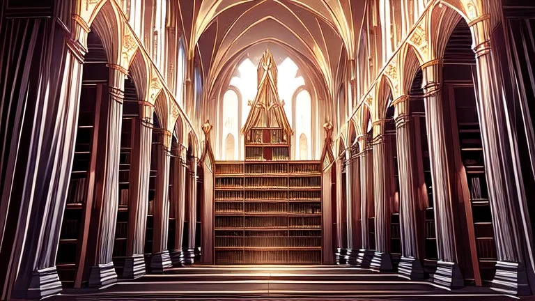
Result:
[[320,162],[216,162],[215,263],[321,263]]

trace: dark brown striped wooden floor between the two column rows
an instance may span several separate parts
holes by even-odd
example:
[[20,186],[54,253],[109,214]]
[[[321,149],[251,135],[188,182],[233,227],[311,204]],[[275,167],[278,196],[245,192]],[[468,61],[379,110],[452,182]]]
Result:
[[65,290],[48,300],[514,300],[490,288],[449,291],[431,281],[330,265],[202,265]]

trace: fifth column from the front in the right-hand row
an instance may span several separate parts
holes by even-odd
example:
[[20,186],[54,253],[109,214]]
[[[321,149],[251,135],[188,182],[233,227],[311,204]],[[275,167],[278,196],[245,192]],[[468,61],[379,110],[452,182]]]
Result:
[[366,134],[358,137],[360,149],[360,217],[362,221],[362,248],[359,249],[357,255],[357,265],[362,268],[369,268],[371,259],[373,258],[373,250],[371,250],[369,240],[369,206],[373,204],[373,151],[371,145],[366,141]]

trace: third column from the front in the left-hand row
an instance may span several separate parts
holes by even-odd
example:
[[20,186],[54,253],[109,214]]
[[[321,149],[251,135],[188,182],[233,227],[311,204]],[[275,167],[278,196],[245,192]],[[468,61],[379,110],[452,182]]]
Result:
[[140,121],[134,126],[134,147],[130,164],[130,203],[128,204],[127,258],[123,277],[137,278],[146,274],[145,231],[147,225],[148,183],[150,176],[150,153],[152,151],[153,128],[151,118],[154,107],[141,102]]

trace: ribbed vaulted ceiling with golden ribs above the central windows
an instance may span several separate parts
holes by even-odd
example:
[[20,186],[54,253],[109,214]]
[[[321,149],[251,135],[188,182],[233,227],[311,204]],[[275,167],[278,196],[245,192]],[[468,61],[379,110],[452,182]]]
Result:
[[[356,36],[365,0],[179,0],[178,18],[188,56],[203,71],[205,100],[228,82],[253,49],[277,45],[298,64],[325,98],[334,95]],[[194,45],[195,47],[191,47]]]

